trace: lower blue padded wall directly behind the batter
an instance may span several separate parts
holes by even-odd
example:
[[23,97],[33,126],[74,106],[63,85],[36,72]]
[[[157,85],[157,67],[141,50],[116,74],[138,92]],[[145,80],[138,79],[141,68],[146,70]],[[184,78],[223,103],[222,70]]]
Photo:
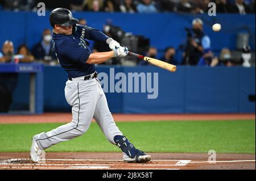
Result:
[[[248,98],[250,94],[255,95],[255,68],[177,66],[177,71],[171,73],[154,66],[98,66],[97,71],[101,83],[105,83],[102,87],[110,111],[114,113],[255,113],[255,102]],[[138,92],[134,79],[129,85],[132,73],[143,75],[148,81],[141,86],[144,81],[139,79]],[[120,79],[126,84],[119,86]],[[28,74],[19,74],[13,110],[28,109],[28,81]],[[66,81],[67,74],[62,68],[45,66],[44,111],[71,111],[64,96]],[[123,92],[118,93],[114,86]],[[157,98],[148,99],[148,96]]]

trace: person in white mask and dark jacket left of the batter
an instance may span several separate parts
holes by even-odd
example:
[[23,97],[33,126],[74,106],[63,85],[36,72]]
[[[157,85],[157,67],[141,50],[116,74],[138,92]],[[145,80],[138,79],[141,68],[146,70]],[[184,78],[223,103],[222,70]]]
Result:
[[36,60],[44,60],[46,62],[56,60],[55,50],[52,48],[52,33],[50,29],[47,28],[43,31],[42,40],[34,45],[31,52]]

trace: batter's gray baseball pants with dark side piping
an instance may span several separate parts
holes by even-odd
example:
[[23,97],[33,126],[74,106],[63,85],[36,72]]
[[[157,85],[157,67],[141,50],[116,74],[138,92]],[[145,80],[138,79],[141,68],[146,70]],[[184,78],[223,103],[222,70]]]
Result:
[[84,81],[83,77],[77,77],[72,81],[68,80],[65,86],[65,98],[72,106],[72,121],[47,133],[37,134],[35,138],[40,149],[47,149],[59,142],[81,136],[90,127],[92,118],[96,120],[101,131],[112,144],[115,144],[115,136],[123,135],[115,125],[106,96],[97,78]]

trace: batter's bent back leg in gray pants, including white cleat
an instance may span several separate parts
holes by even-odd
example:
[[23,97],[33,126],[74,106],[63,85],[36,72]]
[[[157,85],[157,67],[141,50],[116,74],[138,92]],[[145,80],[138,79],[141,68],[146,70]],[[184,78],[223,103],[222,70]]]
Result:
[[79,137],[89,129],[100,96],[96,91],[97,87],[98,83],[94,79],[67,81],[65,97],[72,106],[72,121],[32,138],[30,157],[33,162],[40,162],[39,157],[44,149]]

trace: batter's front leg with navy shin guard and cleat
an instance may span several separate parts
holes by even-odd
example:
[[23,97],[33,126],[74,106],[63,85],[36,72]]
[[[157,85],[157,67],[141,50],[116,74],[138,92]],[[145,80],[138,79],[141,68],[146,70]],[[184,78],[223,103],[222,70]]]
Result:
[[136,149],[130,141],[123,136],[119,131],[117,125],[115,125],[112,114],[109,111],[106,96],[102,91],[102,95],[96,104],[94,111],[94,119],[100,126],[101,131],[105,134],[108,140],[117,145],[123,151],[123,161],[126,162],[148,162],[151,160],[151,156],[144,154],[143,151]]

